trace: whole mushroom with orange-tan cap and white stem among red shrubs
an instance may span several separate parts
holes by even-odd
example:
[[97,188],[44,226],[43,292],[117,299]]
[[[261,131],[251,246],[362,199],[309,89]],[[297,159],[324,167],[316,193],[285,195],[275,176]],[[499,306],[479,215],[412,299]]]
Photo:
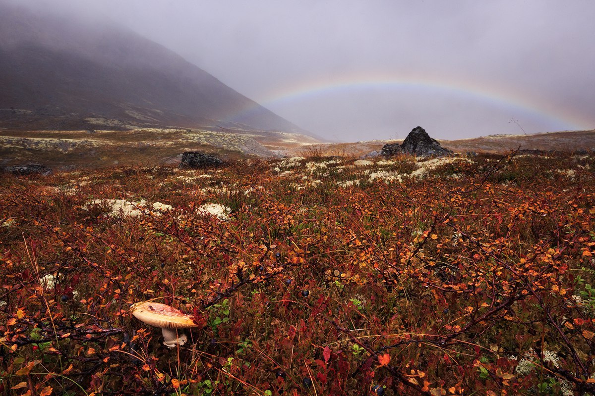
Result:
[[165,338],[164,345],[168,348],[184,345],[188,340],[186,334],[178,335],[178,329],[198,327],[193,316],[185,315],[179,309],[165,304],[145,301],[134,304],[130,311],[139,321],[160,327]]

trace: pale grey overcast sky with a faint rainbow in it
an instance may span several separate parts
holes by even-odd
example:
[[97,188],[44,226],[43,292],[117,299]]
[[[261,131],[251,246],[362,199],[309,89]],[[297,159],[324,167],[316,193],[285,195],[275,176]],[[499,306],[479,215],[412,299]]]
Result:
[[595,128],[594,0],[14,1],[111,18],[334,140]]

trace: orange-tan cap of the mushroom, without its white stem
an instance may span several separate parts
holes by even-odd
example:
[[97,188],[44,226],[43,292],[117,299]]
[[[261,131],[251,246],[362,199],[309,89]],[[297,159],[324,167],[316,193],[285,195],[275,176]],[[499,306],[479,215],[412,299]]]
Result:
[[168,329],[198,327],[192,315],[186,315],[169,305],[145,301],[134,304],[130,309],[139,321],[151,326]]

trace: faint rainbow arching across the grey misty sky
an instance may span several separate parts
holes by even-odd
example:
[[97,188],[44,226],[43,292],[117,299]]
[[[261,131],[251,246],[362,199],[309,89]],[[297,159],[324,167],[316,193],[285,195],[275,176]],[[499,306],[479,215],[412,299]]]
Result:
[[[591,129],[593,119],[576,114],[572,109],[560,109],[547,103],[546,98],[530,97],[524,92],[503,85],[473,82],[452,76],[431,76],[420,74],[373,73],[366,75],[342,75],[333,78],[302,81],[287,85],[257,99],[258,104],[273,110],[303,103],[309,99],[331,94],[352,94],[357,90],[369,88],[384,90],[425,90],[440,91],[478,101],[488,105],[507,107],[515,110],[511,116],[521,118],[526,115],[533,119],[541,119],[550,125],[563,129]],[[242,119],[255,112],[258,106],[248,107],[236,113],[230,119]]]

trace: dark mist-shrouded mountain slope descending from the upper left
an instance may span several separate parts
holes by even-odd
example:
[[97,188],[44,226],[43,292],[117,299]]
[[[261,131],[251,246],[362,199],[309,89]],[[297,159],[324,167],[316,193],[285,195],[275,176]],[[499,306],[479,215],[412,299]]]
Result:
[[0,0],[0,128],[164,125],[307,133],[130,30]]

